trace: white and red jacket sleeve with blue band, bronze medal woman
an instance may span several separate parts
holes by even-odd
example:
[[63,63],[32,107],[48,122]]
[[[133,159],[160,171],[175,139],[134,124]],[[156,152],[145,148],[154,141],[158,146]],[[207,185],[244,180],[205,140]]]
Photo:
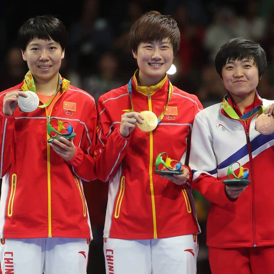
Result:
[[231,202],[226,196],[225,185],[217,178],[212,135],[198,116],[192,128],[189,166],[193,173],[192,189],[215,204]]

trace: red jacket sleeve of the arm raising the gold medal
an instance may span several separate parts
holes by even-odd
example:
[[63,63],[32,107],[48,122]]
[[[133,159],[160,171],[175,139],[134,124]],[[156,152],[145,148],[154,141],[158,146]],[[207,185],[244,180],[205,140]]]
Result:
[[109,181],[117,172],[129,147],[130,136],[124,138],[119,127],[121,121],[112,121],[103,96],[98,100],[97,144],[95,169],[98,179]]

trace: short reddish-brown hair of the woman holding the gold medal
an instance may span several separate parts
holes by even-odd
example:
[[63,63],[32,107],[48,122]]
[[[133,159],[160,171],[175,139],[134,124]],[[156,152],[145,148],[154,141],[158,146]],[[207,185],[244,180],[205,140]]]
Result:
[[179,50],[180,37],[179,27],[173,18],[157,11],[150,11],[140,16],[130,28],[129,46],[136,53],[142,42],[162,41],[164,38],[170,38],[173,55],[175,55]]

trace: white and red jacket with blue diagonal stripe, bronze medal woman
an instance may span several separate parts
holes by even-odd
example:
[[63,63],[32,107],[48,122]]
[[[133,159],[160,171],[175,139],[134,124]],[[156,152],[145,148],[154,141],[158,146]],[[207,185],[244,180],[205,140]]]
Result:
[[[230,98],[228,102],[233,105]],[[256,95],[245,113],[262,103],[268,106],[273,101],[261,102]],[[232,119],[221,103],[207,107],[195,117],[189,165],[193,172],[192,188],[211,202],[207,219],[210,247],[274,245],[274,133],[262,135],[256,131],[257,117],[247,120],[247,124]],[[222,180],[227,179],[228,167],[236,161],[249,169],[251,184],[232,202],[225,194]],[[238,173],[239,169],[235,171]]]

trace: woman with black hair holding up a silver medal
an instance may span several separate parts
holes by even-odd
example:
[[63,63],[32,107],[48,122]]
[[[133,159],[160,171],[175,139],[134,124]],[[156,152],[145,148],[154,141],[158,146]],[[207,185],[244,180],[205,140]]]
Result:
[[95,102],[59,74],[67,31],[58,18],[30,18],[18,38],[29,71],[0,93],[0,273],[87,273],[82,180],[96,179]]

